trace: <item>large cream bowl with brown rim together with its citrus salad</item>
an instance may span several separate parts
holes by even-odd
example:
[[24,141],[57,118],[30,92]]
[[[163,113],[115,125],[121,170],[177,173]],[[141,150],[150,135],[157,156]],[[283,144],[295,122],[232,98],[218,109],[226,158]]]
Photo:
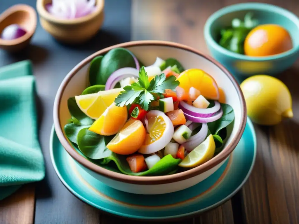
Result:
[[87,173],[118,190],[163,194],[195,185],[228,159],[244,131],[239,86],[184,45],[129,43],[68,74],[54,103],[57,136]]

